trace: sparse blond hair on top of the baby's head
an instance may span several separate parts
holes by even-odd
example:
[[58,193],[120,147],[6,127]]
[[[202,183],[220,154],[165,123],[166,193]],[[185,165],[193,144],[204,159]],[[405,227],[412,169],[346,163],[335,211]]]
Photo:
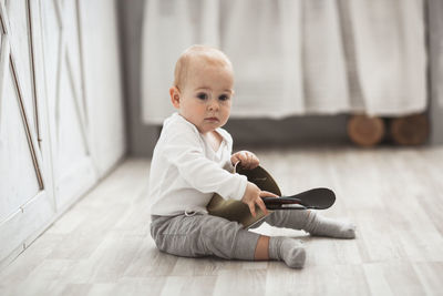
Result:
[[196,61],[196,59],[202,59],[210,65],[226,67],[230,70],[233,69],[233,64],[223,51],[208,45],[192,45],[181,54],[175,64],[174,86],[182,90],[183,85],[186,83],[190,65]]

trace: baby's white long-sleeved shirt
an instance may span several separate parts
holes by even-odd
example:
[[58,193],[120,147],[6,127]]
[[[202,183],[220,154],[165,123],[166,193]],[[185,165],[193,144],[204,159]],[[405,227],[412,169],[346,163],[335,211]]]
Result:
[[151,214],[207,213],[206,205],[214,193],[224,198],[243,197],[246,176],[229,172],[234,169],[233,139],[224,129],[216,132],[223,137],[218,151],[182,115],[174,113],[164,121],[151,163]]

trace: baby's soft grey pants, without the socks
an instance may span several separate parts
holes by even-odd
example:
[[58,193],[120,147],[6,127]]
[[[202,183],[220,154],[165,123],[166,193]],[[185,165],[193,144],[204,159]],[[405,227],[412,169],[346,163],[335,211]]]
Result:
[[[297,212],[297,213],[296,213]],[[289,215],[300,215],[300,227],[308,211],[276,211],[264,220],[285,226]],[[258,227],[256,225],[255,227]],[[194,216],[152,216],[151,235],[158,249],[185,257],[217,256],[225,259],[253,261],[259,234],[237,222],[196,214]]]

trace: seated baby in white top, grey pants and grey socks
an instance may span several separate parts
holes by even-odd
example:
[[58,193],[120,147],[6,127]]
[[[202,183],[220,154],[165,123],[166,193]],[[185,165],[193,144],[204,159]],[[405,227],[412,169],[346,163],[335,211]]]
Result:
[[[151,234],[156,246],[178,256],[277,259],[301,268],[306,253],[298,239],[259,235],[206,211],[214,193],[241,201],[253,216],[256,206],[268,214],[261,197],[276,196],[260,191],[246,176],[229,173],[237,162],[246,169],[259,165],[251,152],[231,154],[233,139],[222,129],[234,98],[229,59],[217,49],[193,45],[179,57],[169,95],[178,112],[163,124],[148,185],[154,198]],[[311,235],[356,236],[353,224],[329,220],[313,211],[276,211],[265,221]]]

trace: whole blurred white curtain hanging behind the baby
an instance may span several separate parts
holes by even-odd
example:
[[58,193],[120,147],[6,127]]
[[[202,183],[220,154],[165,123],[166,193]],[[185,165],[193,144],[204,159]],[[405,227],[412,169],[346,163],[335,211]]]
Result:
[[233,116],[423,111],[423,0],[147,0],[143,120],[173,112],[175,61],[194,43],[233,61]]

